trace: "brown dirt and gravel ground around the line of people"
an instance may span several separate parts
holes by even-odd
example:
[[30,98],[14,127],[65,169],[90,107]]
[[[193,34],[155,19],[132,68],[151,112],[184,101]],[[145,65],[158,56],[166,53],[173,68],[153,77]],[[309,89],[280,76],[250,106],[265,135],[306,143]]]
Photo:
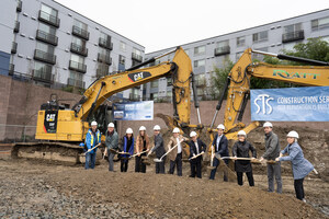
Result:
[[[100,165],[88,171],[82,164],[69,166],[0,155],[0,217],[329,218],[328,131],[295,129],[305,157],[320,173],[305,178],[306,204],[295,198],[288,162],[282,164],[283,194],[272,194],[266,192],[266,169],[259,164],[253,164],[256,186],[249,187],[246,180],[243,186],[238,186],[234,172],[229,174],[230,182],[223,182],[222,169],[215,181],[207,180],[208,162],[204,162],[200,180],[189,177],[188,162],[179,177],[156,175],[154,164],[147,166],[145,174],[134,173],[135,160],[131,160],[128,173],[118,171],[120,162],[115,163],[116,172],[109,172],[100,154]],[[274,128],[282,148],[290,130]],[[253,130],[248,140],[260,157],[264,151],[262,129]],[[168,168],[167,163],[166,171]]]

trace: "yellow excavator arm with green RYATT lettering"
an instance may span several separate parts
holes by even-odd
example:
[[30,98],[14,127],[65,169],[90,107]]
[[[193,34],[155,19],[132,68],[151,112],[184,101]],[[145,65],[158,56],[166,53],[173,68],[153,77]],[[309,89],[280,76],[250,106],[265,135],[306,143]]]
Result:
[[[310,66],[276,66],[265,62],[253,62],[252,54],[273,56],[279,59],[299,61]],[[214,123],[222,108],[226,91],[227,102],[224,116],[224,126],[226,129],[224,132],[227,139],[237,139],[238,130],[245,130],[248,134],[259,126],[259,122],[253,122],[248,126],[241,123],[249,99],[251,77],[302,85],[325,87],[329,85],[329,62],[270,54],[252,50],[251,48],[246,49],[228,74],[211,127],[207,129],[212,142],[214,140],[213,132],[216,131],[216,129],[213,129]]]

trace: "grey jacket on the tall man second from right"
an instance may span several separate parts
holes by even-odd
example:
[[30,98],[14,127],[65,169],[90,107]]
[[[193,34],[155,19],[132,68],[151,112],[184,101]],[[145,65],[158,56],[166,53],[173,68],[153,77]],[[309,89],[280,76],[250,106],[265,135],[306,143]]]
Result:
[[266,160],[275,160],[280,155],[280,142],[276,134],[273,131],[265,135],[265,152],[263,158]]

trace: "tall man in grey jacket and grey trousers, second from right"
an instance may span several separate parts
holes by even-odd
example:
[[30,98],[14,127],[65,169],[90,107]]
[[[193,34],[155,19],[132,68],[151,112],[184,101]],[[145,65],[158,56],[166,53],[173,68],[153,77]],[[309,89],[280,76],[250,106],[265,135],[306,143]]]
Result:
[[[275,160],[280,155],[280,141],[276,134],[273,132],[273,125],[270,122],[264,123],[263,125],[265,132],[265,152],[260,158],[262,162],[265,160]],[[274,164],[268,163],[268,182],[269,188],[268,192],[274,192],[274,177],[276,181],[276,193],[282,193],[282,180],[281,180],[281,163],[276,162]]]

